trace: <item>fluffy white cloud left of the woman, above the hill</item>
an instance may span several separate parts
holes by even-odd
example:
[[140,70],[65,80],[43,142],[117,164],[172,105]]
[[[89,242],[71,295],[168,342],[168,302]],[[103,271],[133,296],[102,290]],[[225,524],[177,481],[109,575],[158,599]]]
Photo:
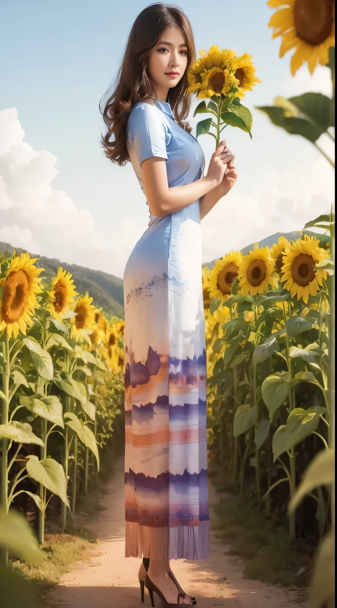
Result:
[[34,151],[23,138],[16,109],[0,111],[0,240],[122,276],[146,226],[133,219],[97,226],[87,210],[52,188],[56,157]]

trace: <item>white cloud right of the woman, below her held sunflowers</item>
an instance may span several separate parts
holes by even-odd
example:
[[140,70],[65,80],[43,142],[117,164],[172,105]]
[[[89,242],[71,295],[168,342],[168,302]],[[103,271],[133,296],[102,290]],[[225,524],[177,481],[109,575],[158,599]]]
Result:
[[333,170],[324,159],[284,173],[267,173],[250,195],[236,187],[202,221],[203,261],[242,249],[276,232],[301,230],[330,211]]

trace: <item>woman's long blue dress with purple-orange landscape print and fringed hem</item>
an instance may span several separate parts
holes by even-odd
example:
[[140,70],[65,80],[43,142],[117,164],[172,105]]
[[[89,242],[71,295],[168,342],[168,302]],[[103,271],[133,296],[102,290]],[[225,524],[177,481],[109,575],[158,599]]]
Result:
[[[169,187],[202,176],[197,140],[166,102],[139,102],[126,142],[166,160]],[[206,351],[199,201],[158,218],[124,272],[126,557],[208,557]]]

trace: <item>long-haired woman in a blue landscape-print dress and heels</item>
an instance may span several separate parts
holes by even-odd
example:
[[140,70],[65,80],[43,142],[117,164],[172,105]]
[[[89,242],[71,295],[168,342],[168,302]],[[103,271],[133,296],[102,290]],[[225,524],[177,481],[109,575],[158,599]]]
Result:
[[131,161],[150,209],[124,272],[125,554],[143,556],[141,599],[145,579],[152,606],[154,591],[165,606],[195,604],[169,559],[208,557],[200,218],[237,173],[223,141],[203,176],[202,148],[183,122],[194,60],[186,15],[152,4],[134,22],[102,110],[105,154]]

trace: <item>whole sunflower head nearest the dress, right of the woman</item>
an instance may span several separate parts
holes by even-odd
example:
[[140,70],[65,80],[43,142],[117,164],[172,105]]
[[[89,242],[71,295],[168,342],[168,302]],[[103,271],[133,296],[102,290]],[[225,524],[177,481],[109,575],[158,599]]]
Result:
[[226,302],[231,295],[233,281],[239,272],[239,263],[241,260],[239,251],[230,251],[216,261],[215,266],[209,273],[209,295],[216,300]]

